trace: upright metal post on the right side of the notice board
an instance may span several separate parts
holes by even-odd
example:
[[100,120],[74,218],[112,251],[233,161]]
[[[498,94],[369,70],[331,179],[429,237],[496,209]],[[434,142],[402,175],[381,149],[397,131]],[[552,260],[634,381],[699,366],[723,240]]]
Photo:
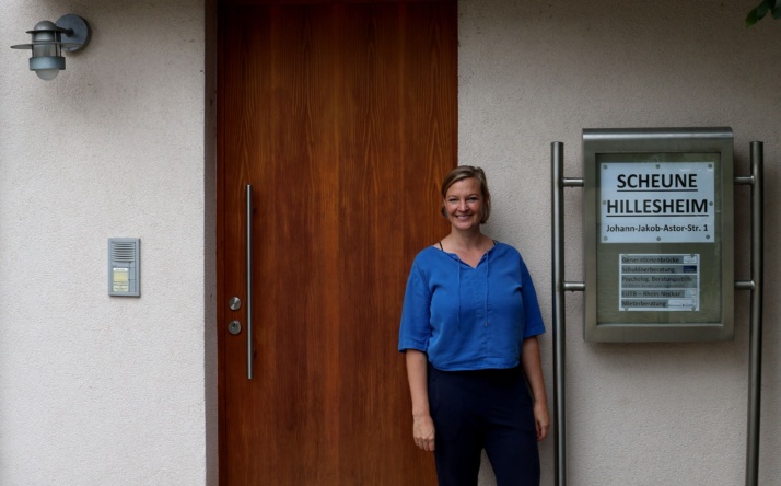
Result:
[[751,316],[749,323],[748,433],[746,486],[759,484],[759,408],[762,384],[762,265],[763,265],[762,142],[751,142]]

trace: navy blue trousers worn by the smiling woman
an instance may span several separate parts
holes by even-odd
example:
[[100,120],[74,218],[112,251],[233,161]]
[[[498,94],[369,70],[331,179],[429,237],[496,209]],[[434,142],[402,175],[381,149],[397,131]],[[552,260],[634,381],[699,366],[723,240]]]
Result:
[[532,397],[511,370],[440,371],[429,366],[429,404],[440,486],[476,486],[486,450],[497,486],[538,486]]

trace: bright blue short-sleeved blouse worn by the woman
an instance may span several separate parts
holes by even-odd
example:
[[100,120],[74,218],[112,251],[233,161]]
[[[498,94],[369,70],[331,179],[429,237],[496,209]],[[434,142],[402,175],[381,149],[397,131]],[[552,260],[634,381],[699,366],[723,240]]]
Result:
[[434,246],[412,263],[398,349],[428,354],[443,371],[514,368],[525,338],[545,333],[517,250],[497,243],[476,268]]

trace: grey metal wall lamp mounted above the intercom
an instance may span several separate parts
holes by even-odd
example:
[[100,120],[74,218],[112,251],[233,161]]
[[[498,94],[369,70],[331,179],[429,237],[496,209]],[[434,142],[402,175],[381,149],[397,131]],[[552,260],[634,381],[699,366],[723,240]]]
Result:
[[32,44],[19,44],[11,48],[31,49],[30,70],[48,81],[65,69],[62,51],[75,53],[86,47],[92,31],[84,19],[69,13],[59,18],[57,23],[40,21],[27,34],[33,36]]

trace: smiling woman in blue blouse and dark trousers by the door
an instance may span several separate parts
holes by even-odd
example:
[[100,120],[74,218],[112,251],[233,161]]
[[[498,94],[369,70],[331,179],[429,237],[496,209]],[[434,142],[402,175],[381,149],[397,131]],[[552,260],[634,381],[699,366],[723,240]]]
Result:
[[404,300],[412,436],[434,452],[441,486],[476,485],[483,449],[498,486],[538,485],[537,441],[550,426],[537,296],[521,254],[480,231],[490,212],[483,171],[451,171],[451,232],[415,258]]

